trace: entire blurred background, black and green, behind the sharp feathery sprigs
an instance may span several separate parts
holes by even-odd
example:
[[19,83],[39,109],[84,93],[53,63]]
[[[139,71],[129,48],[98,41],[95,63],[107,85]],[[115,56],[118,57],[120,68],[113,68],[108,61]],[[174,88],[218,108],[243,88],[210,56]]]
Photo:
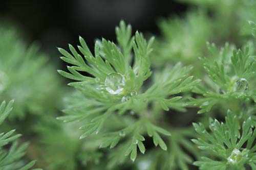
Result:
[[[186,169],[186,163],[198,157],[187,142],[195,133],[191,122],[204,119],[196,115],[198,109],[163,114],[158,106],[152,106],[154,113],[161,113],[156,117],[168,120],[167,129],[177,137],[166,138],[167,152],[154,148],[153,142],[145,143],[149,152],[136,163],[118,159],[108,149],[99,150],[97,137],[78,140],[79,123],[56,120],[69,102],[65,96],[73,93],[65,85],[67,80],[57,74],[64,63],[56,47],[78,44],[79,35],[91,49],[96,38],[114,41],[114,29],[123,19],[134,32],[156,35],[155,70],[181,61],[194,65],[193,74],[203,77],[198,57],[208,56],[206,41],[217,46],[228,41],[238,47],[252,43],[247,23],[256,21],[255,9],[253,0],[1,1],[0,83],[5,80],[10,85],[0,84],[0,101],[15,99],[14,110],[1,131],[16,128],[22,133],[21,141],[31,143],[27,159],[37,159],[36,165],[45,169]],[[116,166],[120,162],[125,163]]]

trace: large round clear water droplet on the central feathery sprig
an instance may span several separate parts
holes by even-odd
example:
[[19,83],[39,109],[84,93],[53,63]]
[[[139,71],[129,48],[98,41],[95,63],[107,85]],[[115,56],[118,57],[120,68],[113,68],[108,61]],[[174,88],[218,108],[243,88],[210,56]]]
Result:
[[124,76],[118,72],[113,72],[106,76],[105,79],[105,87],[106,91],[111,94],[119,94],[123,91],[123,87],[125,85]]

